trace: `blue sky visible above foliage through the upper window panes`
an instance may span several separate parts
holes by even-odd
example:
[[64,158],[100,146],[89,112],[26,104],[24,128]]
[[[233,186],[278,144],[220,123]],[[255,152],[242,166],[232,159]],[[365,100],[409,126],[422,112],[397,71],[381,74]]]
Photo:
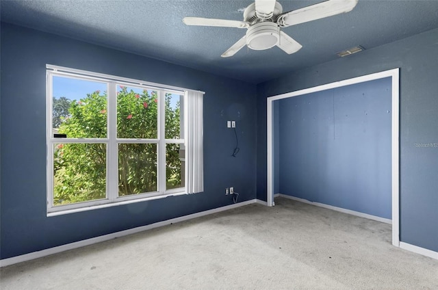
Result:
[[[87,94],[96,92],[96,90],[99,90],[101,93],[106,92],[106,83],[53,76],[53,96],[55,98],[65,96],[70,101],[79,101],[81,98],[85,98]],[[120,90],[119,86],[117,86],[117,90]],[[129,90],[131,90],[131,87],[129,87]],[[132,90],[137,94],[142,94],[143,92],[143,89],[140,88],[132,88]],[[148,91],[151,92],[151,90]],[[177,101],[179,101],[177,96],[179,95],[172,94],[170,99],[171,107],[175,108],[177,106]]]

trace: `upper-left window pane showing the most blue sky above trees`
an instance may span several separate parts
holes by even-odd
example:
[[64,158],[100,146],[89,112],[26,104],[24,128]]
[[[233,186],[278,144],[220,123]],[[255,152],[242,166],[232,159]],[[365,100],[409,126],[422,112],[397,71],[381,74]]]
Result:
[[107,137],[106,83],[53,76],[52,88],[54,137]]

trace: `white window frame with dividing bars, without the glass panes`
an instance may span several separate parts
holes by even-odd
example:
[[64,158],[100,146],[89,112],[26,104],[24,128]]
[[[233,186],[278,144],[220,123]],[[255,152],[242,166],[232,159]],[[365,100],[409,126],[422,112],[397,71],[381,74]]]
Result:
[[[166,189],[166,144],[182,144],[185,148],[185,122],[181,122],[181,139],[165,138],[165,95],[166,93],[179,94],[184,96],[181,104],[181,113],[186,118],[185,98],[187,92],[199,92],[169,85],[160,85],[124,77],[103,75],[85,70],[75,70],[61,66],[47,64],[47,215],[60,215],[90,209],[99,209],[114,205],[123,205],[131,202],[140,202],[167,196],[175,196],[187,193],[187,180],[185,187]],[[72,79],[83,79],[88,81],[98,81],[107,83],[107,137],[106,138],[64,138],[53,137],[52,118],[53,118],[53,76],[68,77]],[[158,120],[157,120],[157,139],[125,139],[117,137],[117,86],[125,85],[143,90],[154,90],[158,95]],[[204,92],[199,92],[204,94]],[[183,121],[181,120],[181,121]],[[107,164],[106,164],[106,190],[105,198],[90,200],[87,202],[76,202],[69,205],[53,205],[53,144],[107,144]],[[132,194],[129,196],[118,196],[118,144],[157,144],[157,192],[147,192],[143,194]],[[188,159],[188,151],[185,150],[185,159]],[[187,171],[187,166],[185,168]],[[187,173],[186,173],[187,174]]]

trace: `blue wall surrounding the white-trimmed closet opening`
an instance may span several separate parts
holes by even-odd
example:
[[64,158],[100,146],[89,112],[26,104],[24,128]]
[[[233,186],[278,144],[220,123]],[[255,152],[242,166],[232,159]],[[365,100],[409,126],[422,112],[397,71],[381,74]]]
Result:
[[257,85],[257,198],[266,200],[266,97],[400,68],[400,240],[438,251],[438,29]]

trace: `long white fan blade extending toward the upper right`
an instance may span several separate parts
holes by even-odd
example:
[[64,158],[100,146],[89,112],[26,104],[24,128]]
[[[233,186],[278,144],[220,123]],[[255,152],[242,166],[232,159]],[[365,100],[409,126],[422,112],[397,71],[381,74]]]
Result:
[[279,26],[287,27],[320,18],[350,12],[355,8],[357,0],[329,0],[305,8],[286,12],[277,21]]

